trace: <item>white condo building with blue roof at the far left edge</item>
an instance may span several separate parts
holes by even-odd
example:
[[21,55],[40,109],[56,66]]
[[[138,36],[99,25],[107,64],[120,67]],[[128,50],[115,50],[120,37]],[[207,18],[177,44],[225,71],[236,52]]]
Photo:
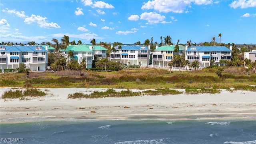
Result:
[[45,46],[6,46],[0,45],[0,68],[16,69],[24,63],[31,71],[45,71],[47,68],[48,45]]

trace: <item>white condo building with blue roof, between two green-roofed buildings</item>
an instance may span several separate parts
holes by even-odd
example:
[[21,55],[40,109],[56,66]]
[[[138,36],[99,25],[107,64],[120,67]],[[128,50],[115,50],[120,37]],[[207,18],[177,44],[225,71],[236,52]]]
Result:
[[[112,46],[111,46],[112,47]],[[118,45],[110,53],[112,62],[148,66],[150,48],[142,45]]]

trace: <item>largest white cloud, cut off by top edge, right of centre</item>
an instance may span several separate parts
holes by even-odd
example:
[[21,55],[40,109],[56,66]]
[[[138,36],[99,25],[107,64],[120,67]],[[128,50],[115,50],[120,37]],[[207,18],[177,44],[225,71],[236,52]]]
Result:
[[158,10],[159,12],[175,12],[183,13],[186,12],[186,7],[190,6],[191,3],[197,5],[207,5],[212,4],[212,0],[152,0],[144,2],[141,9],[142,10]]

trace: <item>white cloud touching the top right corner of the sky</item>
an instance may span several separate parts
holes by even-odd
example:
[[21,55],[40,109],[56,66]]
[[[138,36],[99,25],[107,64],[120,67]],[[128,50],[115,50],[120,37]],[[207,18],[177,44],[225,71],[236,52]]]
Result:
[[229,4],[231,8],[250,8],[256,7],[256,0],[235,0]]

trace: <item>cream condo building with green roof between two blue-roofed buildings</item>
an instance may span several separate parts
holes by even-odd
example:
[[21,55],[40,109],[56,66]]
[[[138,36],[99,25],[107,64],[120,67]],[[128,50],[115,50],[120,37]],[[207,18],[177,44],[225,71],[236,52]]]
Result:
[[178,45],[178,52],[174,52],[176,45],[165,45],[160,46],[156,45],[155,52],[152,52],[152,67],[155,68],[169,68],[168,62],[172,61],[172,58],[175,54],[182,55],[182,52],[185,50],[185,46]]

